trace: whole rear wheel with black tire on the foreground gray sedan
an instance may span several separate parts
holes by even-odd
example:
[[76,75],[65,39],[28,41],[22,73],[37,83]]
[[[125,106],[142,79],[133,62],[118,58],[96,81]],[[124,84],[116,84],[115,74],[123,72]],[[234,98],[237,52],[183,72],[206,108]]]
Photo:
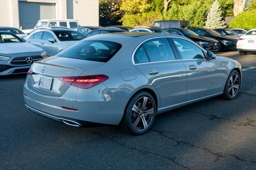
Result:
[[142,91],[128,102],[120,125],[126,133],[142,135],[150,129],[155,116],[154,98],[148,92]]

